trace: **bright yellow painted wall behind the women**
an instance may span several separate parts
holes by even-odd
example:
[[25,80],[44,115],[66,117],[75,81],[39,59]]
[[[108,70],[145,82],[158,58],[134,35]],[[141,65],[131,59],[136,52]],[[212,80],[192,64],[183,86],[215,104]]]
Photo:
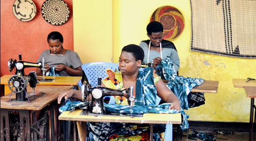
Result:
[[[256,59],[240,59],[190,51],[189,0],[74,0],[74,51],[82,62],[117,63],[122,47],[148,39],[146,26],[155,9],[174,6],[185,17],[185,29],[173,40],[179,75],[219,81],[218,93],[205,93],[206,104],[185,112],[188,120],[249,122],[250,99],[232,78],[256,77]],[[97,12],[92,12],[97,11]],[[105,41],[105,43],[103,43]],[[90,52],[89,52],[90,50]],[[104,57],[105,53],[109,53]],[[209,62],[203,63],[203,62]],[[206,65],[205,65],[206,64]]]

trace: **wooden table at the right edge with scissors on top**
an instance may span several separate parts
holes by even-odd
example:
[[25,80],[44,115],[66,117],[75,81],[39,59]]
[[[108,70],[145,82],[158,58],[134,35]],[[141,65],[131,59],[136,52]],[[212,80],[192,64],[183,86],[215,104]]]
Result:
[[[247,97],[251,98],[250,106],[250,129],[249,129],[249,141],[255,141],[256,138],[256,106],[254,105],[254,98],[256,98],[256,81],[247,79],[233,79],[234,88],[244,88]],[[253,122],[254,113],[254,122]]]

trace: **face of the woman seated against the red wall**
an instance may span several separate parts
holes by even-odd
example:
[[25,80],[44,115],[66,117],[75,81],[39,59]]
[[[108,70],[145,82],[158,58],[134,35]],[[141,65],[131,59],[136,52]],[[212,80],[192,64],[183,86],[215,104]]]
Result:
[[51,50],[51,54],[61,54],[62,53],[62,44],[63,42],[60,42],[59,39],[48,40],[49,48]]

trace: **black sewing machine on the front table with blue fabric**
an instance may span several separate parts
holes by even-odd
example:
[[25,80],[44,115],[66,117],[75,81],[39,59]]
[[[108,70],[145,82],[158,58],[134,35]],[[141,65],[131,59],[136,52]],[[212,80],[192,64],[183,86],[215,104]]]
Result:
[[[83,82],[81,91],[82,96],[84,96],[84,100],[86,100],[89,95],[92,95],[92,102],[90,104],[90,109],[88,111],[83,110],[80,115],[105,115],[105,116],[113,116],[113,115],[120,115],[120,116],[131,116],[131,117],[142,117],[142,114],[133,114],[133,103],[135,101],[133,96],[133,86],[124,90],[115,90],[112,88],[105,88],[100,86],[101,79],[98,79],[98,86],[92,88],[92,86]],[[122,114],[122,113],[106,113],[105,107],[103,104],[103,99],[105,96],[123,96],[127,98],[128,103],[130,104],[130,114]]]

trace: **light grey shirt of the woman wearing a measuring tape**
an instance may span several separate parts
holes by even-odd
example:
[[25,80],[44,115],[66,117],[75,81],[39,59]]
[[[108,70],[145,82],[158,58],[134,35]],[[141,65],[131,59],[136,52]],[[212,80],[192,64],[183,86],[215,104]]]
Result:
[[[152,62],[154,58],[161,57],[161,54],[158,53],[156,50],[150,50],[149,58],[148,58],[148,44],[142,41],[139,44],[139,46],[143,49],[144,55],[145,55],[142,63],[147,64]],[[175,71],[177,72],[179,70],[179,56],[178,56],[177,50],[173,48],[163,48],[162,55],[163,55],[162,59],[170,58],[173,61]],[[156,70],[156,74],[160,76],[159,65],[155,68],[155,70]]]

